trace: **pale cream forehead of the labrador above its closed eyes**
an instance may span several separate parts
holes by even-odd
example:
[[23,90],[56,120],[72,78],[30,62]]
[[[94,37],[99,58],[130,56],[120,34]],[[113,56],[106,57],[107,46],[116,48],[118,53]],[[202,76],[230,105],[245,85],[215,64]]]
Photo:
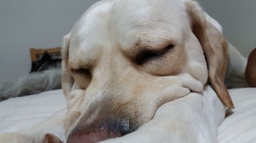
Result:
[[101,1],[75,24],[71,48],[87,52],[116,45],[131,48],[138,40],[157,46],[167,40],[182,41],[188,25],[184,5],[179,0]]

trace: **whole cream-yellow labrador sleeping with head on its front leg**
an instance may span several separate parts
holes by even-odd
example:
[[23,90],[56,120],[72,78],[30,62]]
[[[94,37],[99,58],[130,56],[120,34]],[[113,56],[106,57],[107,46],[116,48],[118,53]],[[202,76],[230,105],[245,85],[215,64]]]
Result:
[[68,108],[0,142],[217,142],[227,47],[197,2],[100,1],[63,38]]

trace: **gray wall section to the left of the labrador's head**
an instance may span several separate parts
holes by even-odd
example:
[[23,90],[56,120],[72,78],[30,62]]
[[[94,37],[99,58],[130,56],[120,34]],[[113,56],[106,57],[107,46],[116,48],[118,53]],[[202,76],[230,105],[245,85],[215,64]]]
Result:
[[61,46],[81,14],[97,0],[0,2],[0,83],[29,73],[29,48]]

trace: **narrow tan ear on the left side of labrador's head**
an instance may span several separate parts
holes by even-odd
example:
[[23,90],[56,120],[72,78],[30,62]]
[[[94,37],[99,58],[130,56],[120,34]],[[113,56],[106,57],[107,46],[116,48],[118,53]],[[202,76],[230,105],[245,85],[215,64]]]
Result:
[[62,42],[62,50],[61,50],[61,55],[62,55],[62,90],[65,95],[66,100],[69,100],[69,94],[71,92],[71,89],[74,84],[74,78],[70,73],[69,70],[69,47],[70,47],[70,34],[66,35],[63,37],[63,42]]

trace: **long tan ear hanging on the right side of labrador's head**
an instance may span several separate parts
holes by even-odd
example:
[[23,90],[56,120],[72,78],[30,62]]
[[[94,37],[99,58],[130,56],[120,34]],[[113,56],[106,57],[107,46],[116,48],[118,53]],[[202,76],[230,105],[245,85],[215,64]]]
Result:
[[209,81],[221,101],[233,108],[232,100],[224,85],[227,64],[227,42],[217,28],[208,22],[205,13],[195,1],[185,2],[191,30],[202,45],[209,72]]

